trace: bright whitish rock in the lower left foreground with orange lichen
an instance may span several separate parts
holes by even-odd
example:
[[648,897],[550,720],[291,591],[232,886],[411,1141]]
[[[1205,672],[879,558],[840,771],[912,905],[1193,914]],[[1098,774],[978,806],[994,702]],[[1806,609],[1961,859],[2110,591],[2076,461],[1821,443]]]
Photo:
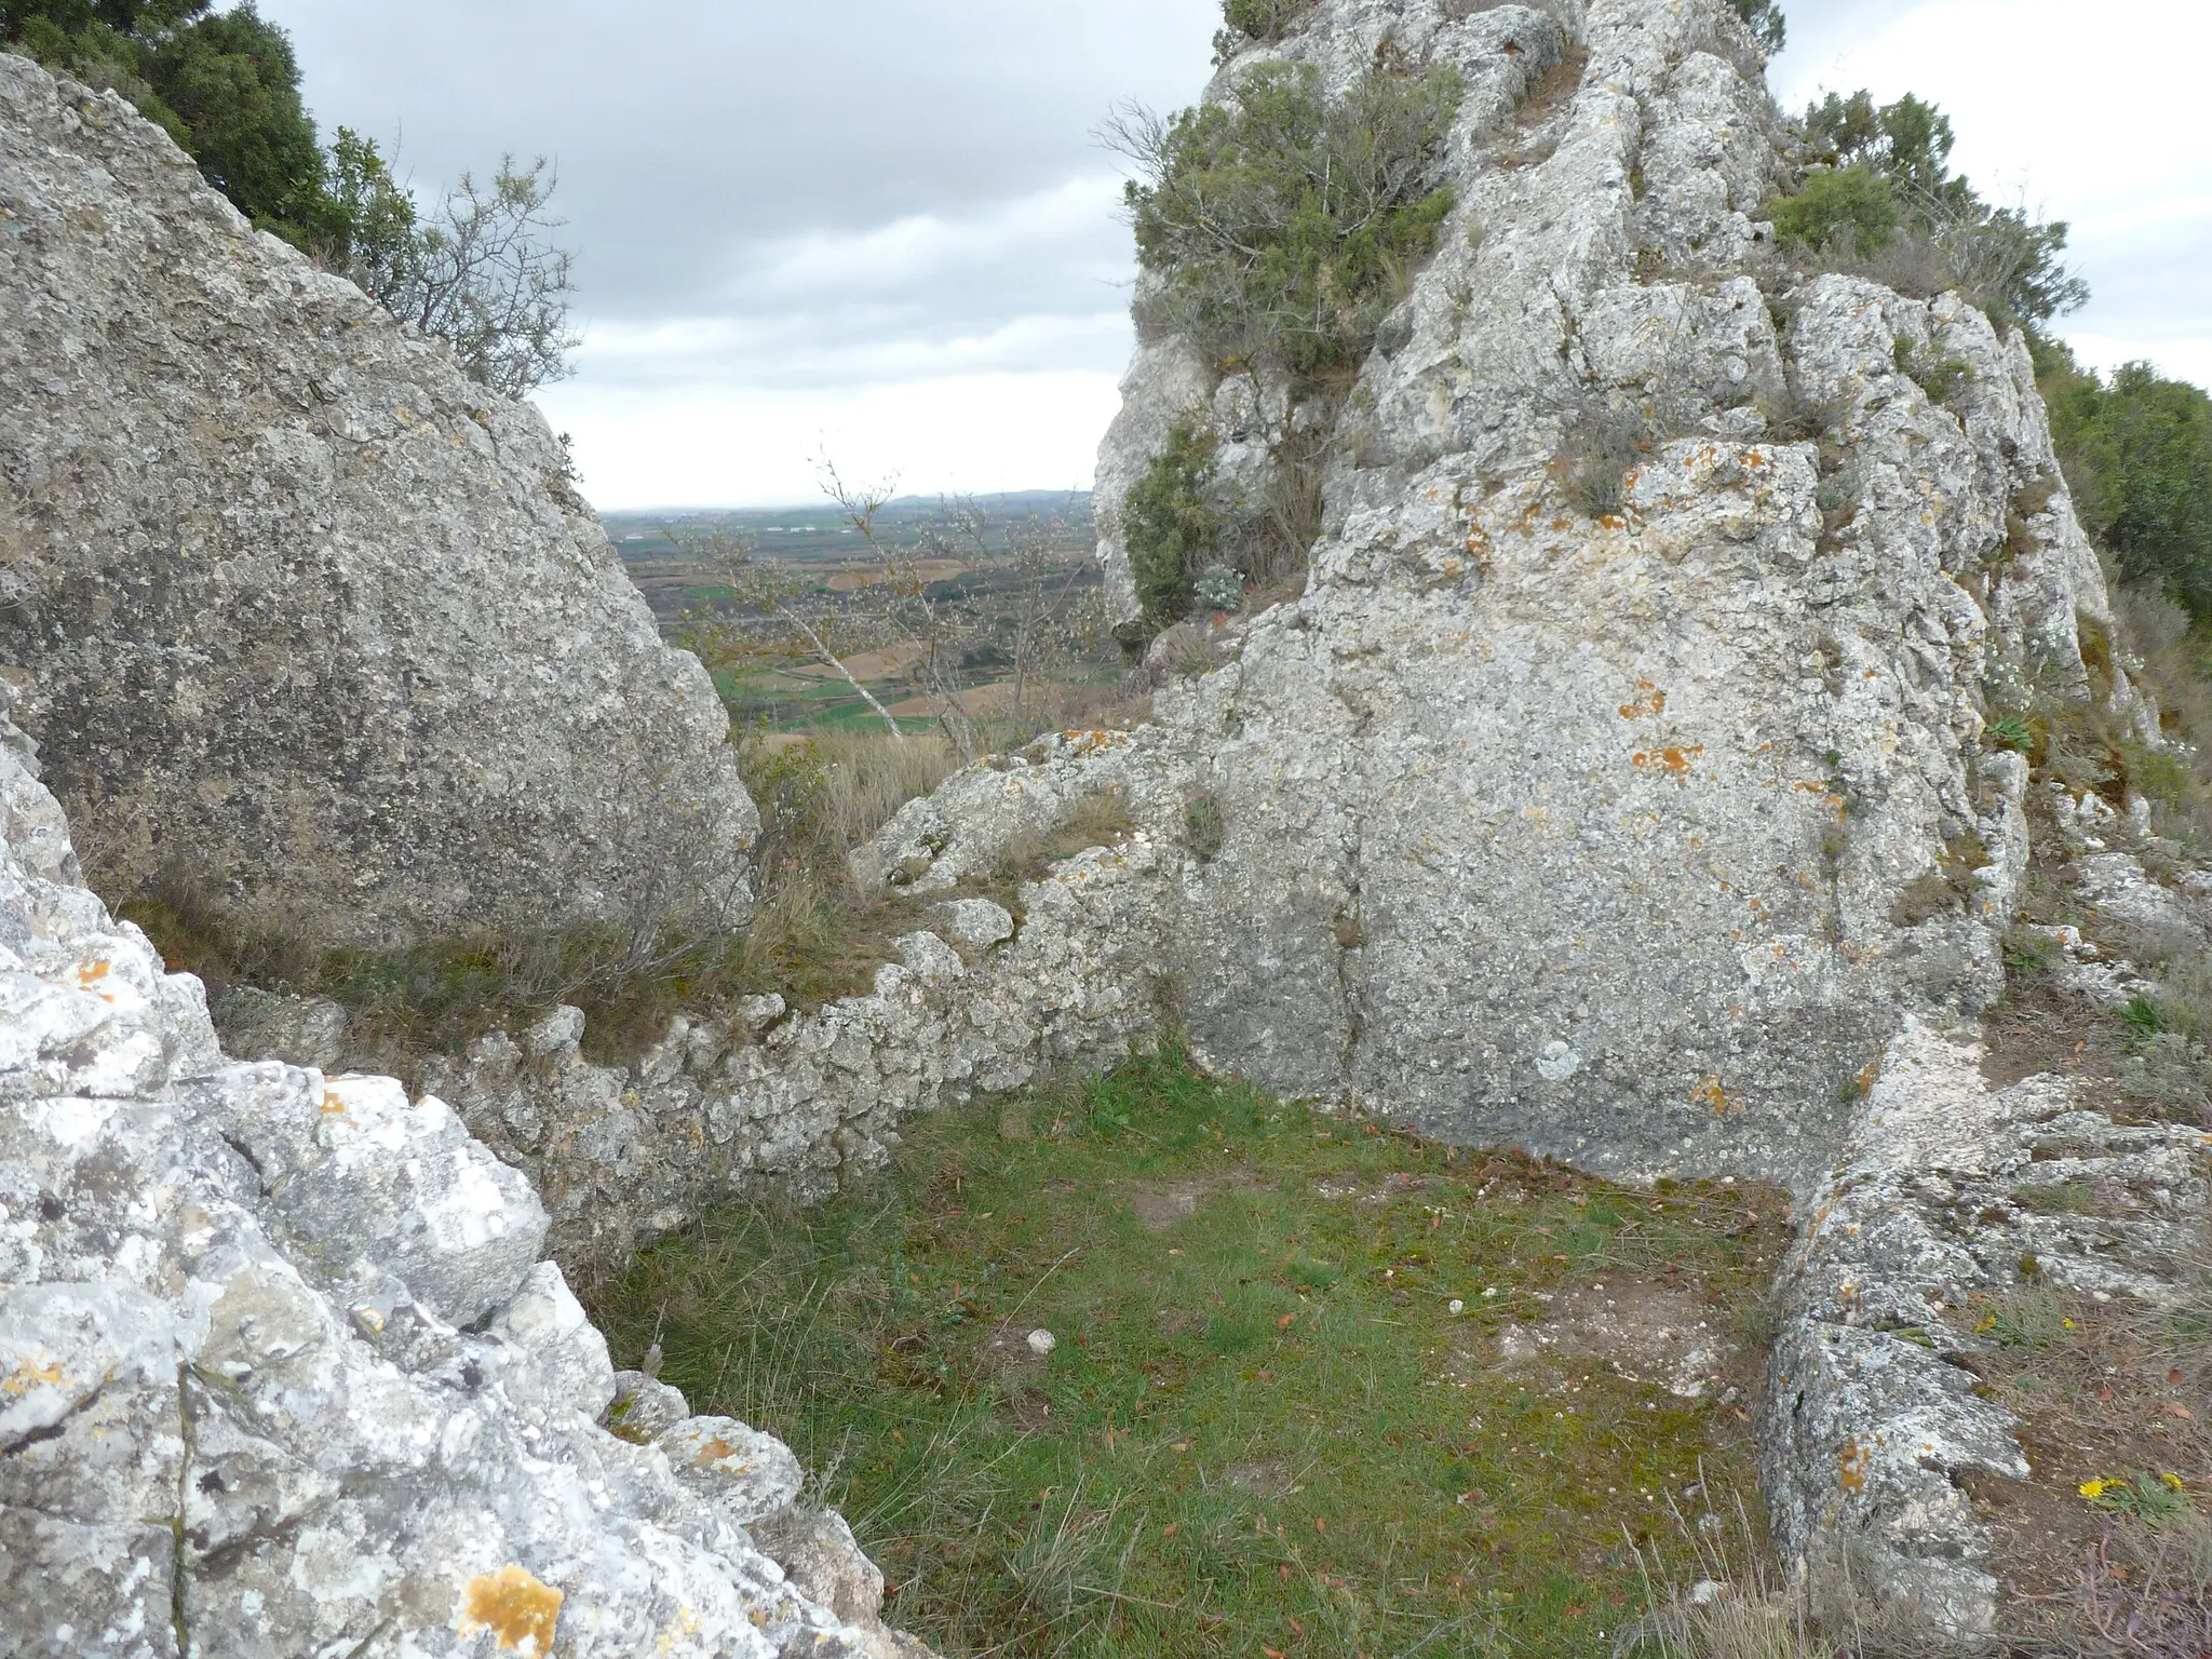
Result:
[[779,1442],[637,1376],[602,1427],[520,1175],[389,1079],[223,1060],[75,874],[0,717],[0,1652],[922,1652]]

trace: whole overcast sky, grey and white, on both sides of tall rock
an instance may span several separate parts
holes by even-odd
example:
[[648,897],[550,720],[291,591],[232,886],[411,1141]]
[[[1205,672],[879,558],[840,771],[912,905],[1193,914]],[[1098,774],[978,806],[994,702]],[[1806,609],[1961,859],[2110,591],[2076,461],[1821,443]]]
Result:
[[[1984,195],[2075,226],[2086,358],[2212,383],[2203,0],[1787,0],[1772,80],[1918,91]],[[560,166],[586,345],[542,394],[602,509],[1091,482],[1128,356],[1119,100],[1179,106],[1217,0],[261,0],[325,135],[422,195]]]

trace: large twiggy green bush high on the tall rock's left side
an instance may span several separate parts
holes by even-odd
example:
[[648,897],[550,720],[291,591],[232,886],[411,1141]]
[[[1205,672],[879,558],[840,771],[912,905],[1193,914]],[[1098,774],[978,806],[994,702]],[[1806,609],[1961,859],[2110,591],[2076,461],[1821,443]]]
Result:
[[1172,321],[1225,365],[1349,378],[1451,212],[1436,150],[1460,102],[1449,69],[1371,69],[1340,102],[1312,64],[1263,64],[1234,104],[1117,131],[1137,257]]

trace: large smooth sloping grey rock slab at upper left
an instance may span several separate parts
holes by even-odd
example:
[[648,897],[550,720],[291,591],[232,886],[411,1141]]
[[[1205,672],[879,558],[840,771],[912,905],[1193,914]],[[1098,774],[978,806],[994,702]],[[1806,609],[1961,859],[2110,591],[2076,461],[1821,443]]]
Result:
[[102,891],[310,938],[743,920],[759,821],[529,405],[0,58],[0,675]]

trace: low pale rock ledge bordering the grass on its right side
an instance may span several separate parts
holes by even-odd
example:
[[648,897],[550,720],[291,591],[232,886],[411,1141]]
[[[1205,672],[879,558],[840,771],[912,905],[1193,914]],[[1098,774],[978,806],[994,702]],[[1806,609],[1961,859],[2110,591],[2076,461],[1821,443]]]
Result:
[[[1761,1425],[1783,1548],[1953,1632],[1986,1632],[2000,1590],[1966,1489],[2028,1478],[2020,1420],[1966,1369],[2000,1352],[1973,1310],[2035,1285],[2174,1312],[2212,1210],[2203,1130],[2115,1124],[2059,1077],[1991,1088],[1982,1057],[1918,1020],[1891,1042],[1776,1287]],[[2124,1197],[2022,1197],[2066,1183]]]

